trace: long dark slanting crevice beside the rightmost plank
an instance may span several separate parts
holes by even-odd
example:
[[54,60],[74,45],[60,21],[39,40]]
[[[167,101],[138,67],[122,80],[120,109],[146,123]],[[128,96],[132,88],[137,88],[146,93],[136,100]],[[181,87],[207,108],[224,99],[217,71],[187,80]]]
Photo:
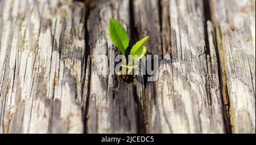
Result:
[[[222,115],[224,117],[224,126],[225,126],[225,131],[226,133],[232,133],[232,126],[231,126],[231,121],[230,121],[230,104],[229,104],[229,97],[228,97],[228,86],[226,85],[226,74],[225,72],[223,73],[222,70],[224,70],[221,65],[221,56],[220,56],[220,52],[219,52],[219,46],[218,42],[221,41],[221,38],[218,39],[217,37],[217,23],[215,22],[215,18],[213,15],[213,9],[212,9],[212,1],[208,1],[208,0],[204,0],[204,13],[205,13],[205,22],[207,22],[207,20],[210,20],[211,22],[213,22],[213,44],[214,44],[214,49],[216,52],[216,56],[217,56],[217,65],[218,65],[218,80],[220,83],[220,89],[221,89],[221,103],[222,103]],[[207,26],[207,25],[206,25]],[[218,32],[220,33],[220,32]],[[209,42],[208,42],[208,46],[209,46]],[[228,101],[228,103],[225,103],[225,99]]]

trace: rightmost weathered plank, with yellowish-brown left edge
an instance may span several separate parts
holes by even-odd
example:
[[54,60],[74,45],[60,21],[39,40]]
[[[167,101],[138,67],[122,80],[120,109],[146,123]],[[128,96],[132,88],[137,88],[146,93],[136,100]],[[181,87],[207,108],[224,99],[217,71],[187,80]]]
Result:
[[[224,106],[224,116],[226,120],[226,130],[228,133],[255,133],[255,94],[253,96],[253,94],[251,94],[251,91],[248,90],[248,88],[253,88],[253,86],[250,86],[250,84],[247,83],[243,84],[245,86],[240,86],[241,83],[238,78],[240,78],[241,76],[236,73],[241,71],[241,67],[239,68],[236,63],[239,64],[241,59],[239,59],[238,57],[237,60],[233,56],[234,54],[238,54],[236,53],[237,48],[247,47],[248,50],[243,50],[247,51],[247,56],[249,56],[251,54],[251,51],[253,50],[253,46],[243,46],[243,42],[245,40],[239,39],[239,37],[252,37],[250,36],[250,33],[243,33],[242,30],[239,30],[238,32],[238,28],[234,27],[234,25],[241,24],[240,21],[244,18],[250,18],[251,12],[255,13],[255,4],[250,4],[250,2],[253,1],[246,1],[245,3],[243,3],[243,5],[241,5],[241,3],[238,3],[238,1],[219,2],[220,1],[217,0],[211,0],[209,2],[209,5],[210,11],[212,12],[212,21],[215,29],[214,36],[216,37],[216,52],[218,53],[218,62],[220,65],[219,72],[223,96],[222,100]],[[255,3],[255,1],[253,3]],[[232,6],[230,7],[230,5]],[[243,10],[243,7],[247,7],[246,10]],[[239,17],[241,14],[243,14],[244,18]],[[235,18],[236,16],[238,17]],[[255,19],[255,15],[253,16]],[[251,22],[243,20],[243,25],[251,25]],[[231,31],[229,31],[229,29]],[[247,42],[248,44],[250,44],[252,41]],[[236,45],[238,45],[238,47]],[[242,55],[243,52],[241,51],[240,56]],[[230,59],[232,59],[232,61]],[[253,56],[250,61],[253,60],[255,61],[255,56]],[[243,65],[245,66],[243,69],[247,69],[246,65]],[[255,66],[253,68],[255,70]],[[248,70],[251,70],[250,65]],[[246,72],[243,73],[246,74]],[[249,79],[251,79],[251,82],[255,82],[255,78],[251,76],[248,76]],[[245,75],[245,78],[243,79],[246,78],[247,76]],[[234,86],[234,84],[236,84],[237,86]],[[244,92],[241,89],[245,89],[248,91]],[[239,94],[241,93],[243,93],[245,96],[240,97]],[[243,100],[243,98],[246,98],[246,100]],[[236,103],[238,101],[243,104],[242,102],[245,102],[247,100],[247,105],[239,106]],[[240,112],[244,113],[240,114]],[[246,122],[246,125],[242,122]]]

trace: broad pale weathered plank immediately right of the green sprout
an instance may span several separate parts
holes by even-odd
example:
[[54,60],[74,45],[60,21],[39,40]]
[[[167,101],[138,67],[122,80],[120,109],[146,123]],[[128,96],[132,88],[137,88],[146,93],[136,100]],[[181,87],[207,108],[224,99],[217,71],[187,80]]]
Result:
[[[146,3],[146,1],[141,2]],[[170,11],[170,22],[164,20],[162,27],[168,28],[169,26],[165,25],[171,24],[171,35],[165,35],[168,39],[163,40],[171,40],[171,56],[166,55],[160,62],[158,80],[147,83],[148,132],[225,133],[218,67],[210,28],[211,45],[205,44],[205,33],[208,32],[204,32],[203,1],[165,2],[170,2],[161,4],[162,10]],[[156,3],[151,4],[152,7],[155,5]],[[166,8],[166,6],[169,7]],[[140,18],[144,20],[148,15],[154,15],[151,12],[158,10],[158,8],[156,10],[146,8],[145,15]],[[141,14],[144,13],[141,12]],[[157,18],[157,15],[155,17]],[[159,23],[156,23],[155,31],[158,28]],[[156,35],[158,33],[152,29],[151,27],[151,31],[145,32],[142,29],[138,32],[150,35],[151,42],[161,46],[160,40],[155,41],[159,37]],[[162,29],[162,31],[167,30]],[[166,50],[168,41],[163,42]],[[151,46],[152,49],[158,48]],[[210,53],[207,53],[207,49],[210,49]]]

